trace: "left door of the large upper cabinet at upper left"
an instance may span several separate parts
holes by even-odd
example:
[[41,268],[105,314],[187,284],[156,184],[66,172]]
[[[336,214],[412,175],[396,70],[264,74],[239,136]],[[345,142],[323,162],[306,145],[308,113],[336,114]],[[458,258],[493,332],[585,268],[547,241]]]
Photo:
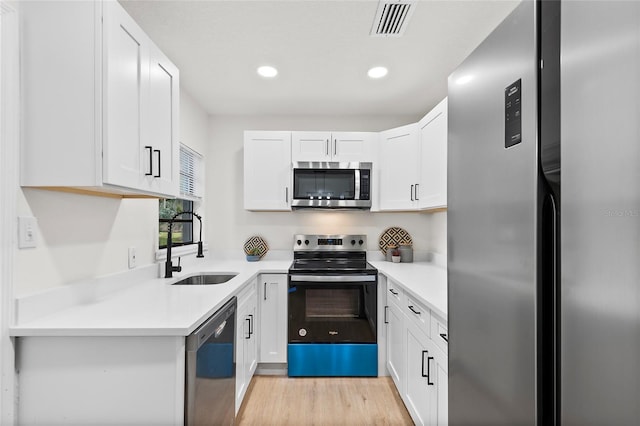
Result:
[[115,2],[104,4],[103,181],[145,187],[143,105],[149,81],[149,39]]

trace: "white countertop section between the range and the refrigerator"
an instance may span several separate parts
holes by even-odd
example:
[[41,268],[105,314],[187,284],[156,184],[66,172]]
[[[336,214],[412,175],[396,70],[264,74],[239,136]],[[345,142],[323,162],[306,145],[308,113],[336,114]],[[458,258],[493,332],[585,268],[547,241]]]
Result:
[[409,295],[418,298],[429,309],[447,320],[447,268],[428,262],[369,262],[401,285]]

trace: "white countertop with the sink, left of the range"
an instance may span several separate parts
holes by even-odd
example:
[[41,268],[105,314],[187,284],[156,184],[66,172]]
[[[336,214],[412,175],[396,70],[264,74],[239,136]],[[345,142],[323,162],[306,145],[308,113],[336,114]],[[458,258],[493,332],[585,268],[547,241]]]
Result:
[[[190,265],[174,278],[154,278],[32,321],[12,336],[187,336],[260,273],[287,273],[291,260],[216,261]],[[217,285],[171,285],[206,272],[238,275]],[[80,284],[82,285],[82,284]]]

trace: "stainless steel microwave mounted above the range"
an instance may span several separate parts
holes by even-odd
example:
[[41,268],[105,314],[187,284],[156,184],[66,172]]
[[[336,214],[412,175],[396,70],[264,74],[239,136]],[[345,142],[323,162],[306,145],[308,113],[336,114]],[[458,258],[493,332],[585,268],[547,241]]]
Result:
[[371,163],[299,162],[293,165],[294,209],[371,209]]

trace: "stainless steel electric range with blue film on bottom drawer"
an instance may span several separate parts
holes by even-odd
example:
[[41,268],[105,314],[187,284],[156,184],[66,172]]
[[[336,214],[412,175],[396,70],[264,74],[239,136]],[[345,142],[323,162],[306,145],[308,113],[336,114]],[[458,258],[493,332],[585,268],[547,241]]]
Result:
[[296,235],[289,376],[377,376],[378,271],[365,235]]

